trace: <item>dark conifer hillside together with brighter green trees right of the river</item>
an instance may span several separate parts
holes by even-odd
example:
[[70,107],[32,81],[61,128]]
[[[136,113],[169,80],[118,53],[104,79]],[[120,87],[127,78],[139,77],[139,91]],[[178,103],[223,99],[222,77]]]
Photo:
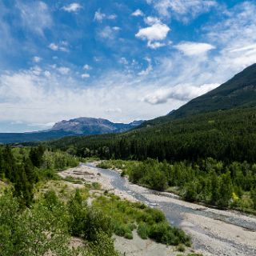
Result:
[[189,201],[256,209],[255,107],[198,114],[126,134],[64,138],[50,146],[82,157],[146,161],[127,172],[131,182],[171,188]]

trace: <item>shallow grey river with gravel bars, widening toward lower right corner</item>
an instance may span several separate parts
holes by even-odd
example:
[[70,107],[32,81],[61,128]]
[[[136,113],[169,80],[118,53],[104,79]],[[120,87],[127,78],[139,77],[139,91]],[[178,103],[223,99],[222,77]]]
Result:
[[[166,214],[170,224],[181,227],[191,234],[195,249],[202,250],[210,255],[256,255],[256,239],[255,243],[251,241],[248,243],[241,242],[243,239],[246,239],[247,235],[251,238],[252,234],[256,238],[256,218],[246,217],[236,212],[214,210],[205,206],[183,202],[173,194],[149,190],[130,184],[126,178],[122,178],[114,170],[101,169],[95,167],[92,163],[86,163],[86,166],[94,168],[100,174],[110,177],[112,186],[115,189],[130,194],[148,206],[161,209]],[[202,222],[190,222],[190,218],[187,216],[193,216],[199,222],[202,219]],[[218,223],[218,225],[220,224],[219,226],[223,226],[223,230],[221,230],[223,232],[219,230],[214,230],[213,232],[206,223],[203,223],[204,220],[213,221],[213,226],[214,222]],[[239,238],[239,228],[241,229],[241,235],[245,235],[244,238]],[[235,238],[230,238],[228,232],[232,232],[232,229],[238,229],[238,235],[236,235],[238,241]],[[216,249],[216,246],[219,246],[219,248]]]

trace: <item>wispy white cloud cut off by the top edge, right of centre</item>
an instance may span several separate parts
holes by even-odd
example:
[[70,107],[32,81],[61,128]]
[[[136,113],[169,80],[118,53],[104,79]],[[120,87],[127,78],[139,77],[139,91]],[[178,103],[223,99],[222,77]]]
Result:
[[146,2],[153,5],[163,17],[177,18],[183,22],[188,22],[191,18],[218,6],[218,2],[214,0],[146,0]]

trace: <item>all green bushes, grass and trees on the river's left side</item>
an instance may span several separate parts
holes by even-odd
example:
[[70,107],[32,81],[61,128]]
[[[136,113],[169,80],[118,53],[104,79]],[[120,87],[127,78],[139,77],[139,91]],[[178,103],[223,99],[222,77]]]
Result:
[[[114,256],[113,234],[131,239],[133,230],[143,239],[190,246],[190,238],[159,210],[107,192],[88,205],[98,184],[56,174],[77,166],[78,158],[42,146],[0,149],[0,180],[7,184],[0,194],[0,255]],[[82,188],[74,190],[70,182]]]

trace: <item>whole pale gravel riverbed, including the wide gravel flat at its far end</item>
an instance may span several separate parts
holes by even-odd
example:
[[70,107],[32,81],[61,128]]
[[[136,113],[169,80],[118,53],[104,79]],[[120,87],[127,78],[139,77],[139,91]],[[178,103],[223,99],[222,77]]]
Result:
[[252,216],[181,201],[174,194],[134,185],[122,178],[120,172],[98,168],[94,163],[65,170],[61,175],[99,182],[103,190],[162,210],[171,225],[191,235],[194,249],[203,255],[249,256],[256,253],[256,218]]

